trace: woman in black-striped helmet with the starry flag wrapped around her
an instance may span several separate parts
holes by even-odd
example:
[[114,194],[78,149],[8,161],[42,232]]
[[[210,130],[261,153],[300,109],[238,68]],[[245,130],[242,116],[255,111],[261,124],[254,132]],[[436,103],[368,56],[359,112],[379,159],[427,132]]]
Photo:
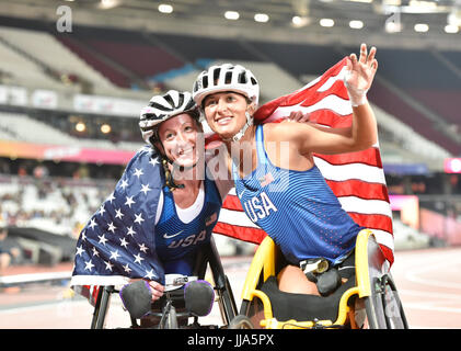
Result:
[[129,161],[114,193],[83,228],[71,285],[143,279],[155,301],[169,274],[193,275],[233,182],[230,177],[215,181],[206,171],[191,93],[153,97],[141,110],[139,127],[149,146]]

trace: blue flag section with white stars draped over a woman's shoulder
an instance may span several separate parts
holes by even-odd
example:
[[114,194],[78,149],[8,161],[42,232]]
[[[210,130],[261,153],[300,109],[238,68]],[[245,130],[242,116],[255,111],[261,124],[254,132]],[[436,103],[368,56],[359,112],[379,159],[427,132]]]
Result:
[[132,157],[80,234],[70,285],[89,298],[94,298],[93,285],[122,285],[137,278],[164,282],[153,236],[164,176],[152,152],[143,147]]

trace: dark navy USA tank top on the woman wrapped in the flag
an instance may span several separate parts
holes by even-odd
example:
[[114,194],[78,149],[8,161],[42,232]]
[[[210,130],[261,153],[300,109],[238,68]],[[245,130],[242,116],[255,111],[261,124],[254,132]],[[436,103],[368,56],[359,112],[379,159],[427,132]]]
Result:
[[222,201],[215,182],[208,178],[204,182],[203,208],[187,224],[177,216],[172,191],[163,188],[163,210],[155,225],[155,247],[165,273],[192,275],[198,250],[210,240]]

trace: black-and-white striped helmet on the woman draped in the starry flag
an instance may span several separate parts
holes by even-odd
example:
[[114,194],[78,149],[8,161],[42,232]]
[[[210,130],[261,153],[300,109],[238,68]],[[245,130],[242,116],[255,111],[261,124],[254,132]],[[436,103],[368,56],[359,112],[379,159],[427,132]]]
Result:
[[139,128],[145,141],[153,145],[158,139],[158,125],[182,113],[189,113],[198,122],[197,105],[189,92],[170,90],[164,95],[152,97],[149,105],[142,107],[140,113]]

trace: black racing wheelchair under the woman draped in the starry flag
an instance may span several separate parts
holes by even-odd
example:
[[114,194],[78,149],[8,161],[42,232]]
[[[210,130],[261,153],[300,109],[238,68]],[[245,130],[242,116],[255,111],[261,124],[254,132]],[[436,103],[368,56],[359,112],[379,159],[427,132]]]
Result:
[[[207,285],[212,290],[212,301],[208,303],[209,308],[212,307],[215,302],[218,303],[220,315],[222,319],[222,326],[203,326],[198,322],[198,317],[206,316],[207,312],[204,310],[204,305],[198,307],[194,304],[194,299],[201,298],[204,296],[203,290],[186,294],[184,286],[192,282],[205,282],[205,274],[207,269],[210,270],[211,281],[207,282]],[[211,237],[208,244],[205,244],[197,254],[196,263],[194,268],[193,276],[178,276],[176,275],[171,283],[173,290],[168,291],[164,295],[151,304],[150,312],[148,315],[157,320],[157,325],[142,325],[141,318],[137,318],[129,312],[130,328],[152,328],[152,329],[177,329],[177,328],[193,328],[193,329],[217,329],[227,328],[230,321],[235,317],[238,309],[233,297],[232,288],[229,283],[229,279],[224,274],[222,263],[219,257],[219,252],[216,248],[214,238]],[[197,285],[198,286],[198,285]],[[204,284],[201,284],[204,286]],[[201,287],[203,288],[203,287]],[[105,319],[111,303],[112,294],[120,293],[120,290],[115,288],[114,285],[101,286],[95,301],[93,318],[91,321],[91,329],[102,329],[105,326]],[[210,296],[209,294],[206,294]],[[192,306],[192,307],[191,307]],[[188,319],[193,318],[193,324],[187,325]],[[140,322],[138,322],[138,319]]]

